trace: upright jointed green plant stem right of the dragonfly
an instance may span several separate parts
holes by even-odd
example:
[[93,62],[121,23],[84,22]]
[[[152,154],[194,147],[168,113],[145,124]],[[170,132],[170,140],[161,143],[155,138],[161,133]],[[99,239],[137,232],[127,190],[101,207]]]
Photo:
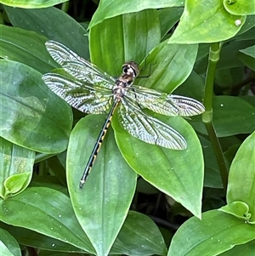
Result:
[[212,43],[210,48],[210,53],[209,53],[207,77],[206,77],[206,88],[205,88],[204,105],[205,105],[206,111],[202,114],[202,121],[205,123],[205,126],[207,128],[207,133],[211,140],[212,148],[218,162],[218,168],[220,171],[220,176],[222,179],[224,191],[227,191],[228,168],[226,167],[226,164],[224,161],[224,154],[223,154],[221,145],[219,144],[218,137],[212,123],[213,81],[215,77],[216,65],[219,60],[220,49],[221,49],[220,43]]

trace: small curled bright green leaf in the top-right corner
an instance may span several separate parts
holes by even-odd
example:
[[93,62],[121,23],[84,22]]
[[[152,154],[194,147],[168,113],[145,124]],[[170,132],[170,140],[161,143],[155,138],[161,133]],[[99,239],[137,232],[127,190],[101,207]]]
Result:
[[255,4],[246,0],[224,0],[224,8],[235,15],[255,14]]

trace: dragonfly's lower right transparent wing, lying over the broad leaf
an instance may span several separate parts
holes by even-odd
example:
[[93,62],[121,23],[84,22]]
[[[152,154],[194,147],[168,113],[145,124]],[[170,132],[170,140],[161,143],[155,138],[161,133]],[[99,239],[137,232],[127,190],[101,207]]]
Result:
[[132,100],[122,98],[118,117],[123,128],[133,137],[146,143],[160,145],[168,149],[184,150],[186,141],[181,134],[164,122],[147,116]]

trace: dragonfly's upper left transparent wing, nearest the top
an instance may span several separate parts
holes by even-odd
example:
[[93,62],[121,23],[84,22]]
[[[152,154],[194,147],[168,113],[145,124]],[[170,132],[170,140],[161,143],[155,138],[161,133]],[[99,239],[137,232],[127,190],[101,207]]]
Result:
[[50,40],[45,43],[45,46],[51,57],[72,77],[105,88],[112,88],[115,85],[113,77],[88,60],[82,59],[65,45]]

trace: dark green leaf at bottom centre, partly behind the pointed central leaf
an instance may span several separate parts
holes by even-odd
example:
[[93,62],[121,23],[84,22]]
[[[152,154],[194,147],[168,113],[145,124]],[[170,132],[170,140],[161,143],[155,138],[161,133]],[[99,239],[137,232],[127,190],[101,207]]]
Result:
[[167,247],[156,224],[146,215],[129,212],[114,242],[112,254],[166,255]]

